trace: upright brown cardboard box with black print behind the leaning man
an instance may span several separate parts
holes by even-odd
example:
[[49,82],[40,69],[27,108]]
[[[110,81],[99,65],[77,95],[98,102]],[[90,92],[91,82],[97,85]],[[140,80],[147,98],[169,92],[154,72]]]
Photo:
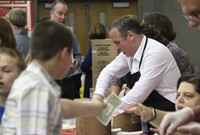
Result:
[[92,86],[103,70],[117,56],[117,50],[111,39],[92,40]]

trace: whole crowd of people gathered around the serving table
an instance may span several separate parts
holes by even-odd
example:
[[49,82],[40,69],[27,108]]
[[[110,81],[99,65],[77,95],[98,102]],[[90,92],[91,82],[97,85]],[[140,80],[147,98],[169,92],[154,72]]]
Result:
[[[200,1],[179,3],[189,27],[200,30]],[[90,40],[109,35],[119,54],[101,71],[90,97],[92,46],[82,61],[78,38],[65,25],[68,12],[64,0],[55,0],[50,17],[34,26],[31,37],[23,9],[0,18],[0,135],[59,135],[63,118],[102,111],[109,87],[117,95],[123,92],[114,116],[139,115],[144,134],[200,134],[199,71],[176,43],[166,15],[147,13],[143,20],[123,15],[108,33],[101,23],[91,27]],[[80,98],[82,74],[90,103],[73,101]]]

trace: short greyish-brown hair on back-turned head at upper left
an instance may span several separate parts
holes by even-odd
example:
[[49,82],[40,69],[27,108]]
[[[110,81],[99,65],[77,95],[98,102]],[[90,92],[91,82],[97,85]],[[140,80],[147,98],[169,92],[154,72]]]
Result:
[[25,27],[27,23],[26,12],[21,8],[14,8],[8,12],[10,23],[17,27]]

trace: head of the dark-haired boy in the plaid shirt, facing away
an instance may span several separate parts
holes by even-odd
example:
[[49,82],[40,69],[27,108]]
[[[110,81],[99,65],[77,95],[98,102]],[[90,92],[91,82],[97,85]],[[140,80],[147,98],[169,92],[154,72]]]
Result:
[[51,61],[55,67],[54,79],[62,79],[72,62],[72,46],[71,31],[61,23],[47,20],[38,23],[33,30],[31,56],[43,63]]

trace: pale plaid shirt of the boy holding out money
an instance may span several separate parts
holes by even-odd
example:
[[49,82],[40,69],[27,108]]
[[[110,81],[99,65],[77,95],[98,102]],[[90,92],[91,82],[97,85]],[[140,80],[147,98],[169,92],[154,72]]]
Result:
[[32,62],[13,84],[0,135],[59,135],[61,126],[60,87]]

